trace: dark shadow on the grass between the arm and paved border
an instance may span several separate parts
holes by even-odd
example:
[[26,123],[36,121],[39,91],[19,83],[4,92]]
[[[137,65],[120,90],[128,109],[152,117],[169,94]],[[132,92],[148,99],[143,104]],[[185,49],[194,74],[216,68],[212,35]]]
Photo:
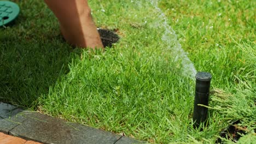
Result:
[[40,95],[68,72],[72,48],[60,34],[0,29],[0,101],[34,107]]

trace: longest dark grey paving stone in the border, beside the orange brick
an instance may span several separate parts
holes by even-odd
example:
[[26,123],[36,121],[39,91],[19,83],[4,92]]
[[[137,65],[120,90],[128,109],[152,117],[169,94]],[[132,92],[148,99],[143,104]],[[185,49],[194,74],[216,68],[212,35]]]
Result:
[[42,143],[115,143],[121,136],[36,112],[10,131],[11,135]]

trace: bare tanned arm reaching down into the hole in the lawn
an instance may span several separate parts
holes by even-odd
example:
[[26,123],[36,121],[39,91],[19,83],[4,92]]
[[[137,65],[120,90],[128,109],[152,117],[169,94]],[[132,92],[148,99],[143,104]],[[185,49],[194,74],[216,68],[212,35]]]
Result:
[[59,20],[61,33],[69,44],[103,49],[87,0],[44,1]]

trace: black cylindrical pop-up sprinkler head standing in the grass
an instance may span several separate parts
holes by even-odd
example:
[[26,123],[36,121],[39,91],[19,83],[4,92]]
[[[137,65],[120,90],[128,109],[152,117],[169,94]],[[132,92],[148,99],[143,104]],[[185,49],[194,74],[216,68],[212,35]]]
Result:
[[211,79],[212,75],[210,73],[200,72],[196,74],[196,88],[193,113],[193,121],[195,123],[195,127],[199,127],[200,123],[206,121],[208,109],[205,106],[208,106],[209,102]]

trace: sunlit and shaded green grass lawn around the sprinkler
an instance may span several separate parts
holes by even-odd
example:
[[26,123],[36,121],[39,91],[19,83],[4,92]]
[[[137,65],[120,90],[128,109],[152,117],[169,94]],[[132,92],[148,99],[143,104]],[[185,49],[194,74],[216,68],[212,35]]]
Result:
[[[152,143],[214,143],[240,120],[238,142],[256,142],[256,2],[161,0],[164,16],[151,1],[90,1],[96,25],[121,37],[104,53],[66,44],[43,1],[15,2],[18,20],[0,28],[0,101]],[[213,76],[199,129],[191,64]]]

